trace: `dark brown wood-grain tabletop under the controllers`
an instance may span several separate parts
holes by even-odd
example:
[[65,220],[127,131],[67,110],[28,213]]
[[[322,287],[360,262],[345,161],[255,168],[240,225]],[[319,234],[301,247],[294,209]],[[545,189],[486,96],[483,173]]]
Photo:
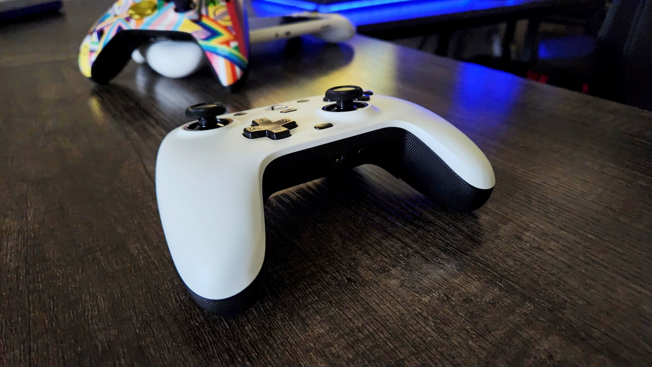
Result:
[[[652,113],[366,37],[256,46],[232,95],[137,65],[100,87],[77,50],[110,2],[0,26],[1,366],[652,363]],[[342,84],[460,128],[492,197],[453,213],[374,166],[279,192],[259,300],[206,314],[160,226],[161,139],[196,102]]]

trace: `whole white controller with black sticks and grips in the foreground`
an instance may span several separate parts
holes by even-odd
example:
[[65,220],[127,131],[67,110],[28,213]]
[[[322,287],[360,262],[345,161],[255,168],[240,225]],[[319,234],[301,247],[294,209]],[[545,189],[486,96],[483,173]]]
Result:
[[[334,87],[229,113],[191,106],[156,158],[156,198],[175,267],[201,307],[248,308],[265,257],[263,206],[274,192],[375,164],[455,211],[481,207],[494,171],[460,130],[417,104]],[[218,116],[219,115],[219,116]]]

